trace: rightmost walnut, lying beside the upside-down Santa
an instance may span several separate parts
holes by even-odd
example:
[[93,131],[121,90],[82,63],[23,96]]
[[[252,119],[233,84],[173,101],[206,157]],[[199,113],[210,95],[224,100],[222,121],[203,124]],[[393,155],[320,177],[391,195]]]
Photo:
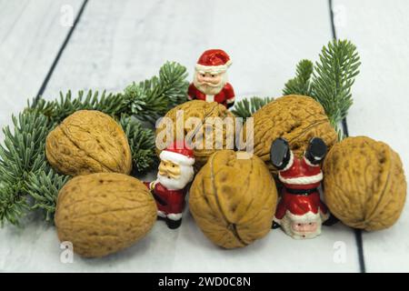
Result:
[[324,199],[345,225],[368,231],[394,225],[404,208],[400,157],[369,137],[348,137],[324,160]]

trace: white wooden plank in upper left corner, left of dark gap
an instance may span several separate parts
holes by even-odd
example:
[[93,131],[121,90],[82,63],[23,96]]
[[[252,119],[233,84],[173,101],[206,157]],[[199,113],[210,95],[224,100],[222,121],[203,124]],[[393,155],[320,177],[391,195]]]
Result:
[[[61,23],[63,5],[76,15],[81,0],[0,2],[0,126],[10,123],[45,79],[70,27]],[[0,133],[3,140],[3,133]]]

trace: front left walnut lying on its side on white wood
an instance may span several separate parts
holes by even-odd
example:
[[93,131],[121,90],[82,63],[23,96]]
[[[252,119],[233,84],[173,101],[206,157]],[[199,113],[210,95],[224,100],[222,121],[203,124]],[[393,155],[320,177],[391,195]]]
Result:
[[60,241],[80,256],[115,253],[154,226],[156,205],[139,180],[116,173],[76,176],[60,191],[55,226]]

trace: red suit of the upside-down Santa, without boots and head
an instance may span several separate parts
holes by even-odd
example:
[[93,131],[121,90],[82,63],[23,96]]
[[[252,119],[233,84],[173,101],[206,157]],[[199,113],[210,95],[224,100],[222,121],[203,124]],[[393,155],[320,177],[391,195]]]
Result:
[[[275,211],[275,218],[282,219],[288,210],[296,216],[303,216],[308,212],[318,214],[320,211],[327,215],[327,208],[321,201],[316,189],[323,179],[319,165],[312,165],[304,157],[292,156],[288,166],[278,173],[278,178],[284,184],[283,196]],[[293,191],[292,191],[293,190]],[[298,192],[299,194],[295,194]],[[302,190],[307,190],[303,194]]]

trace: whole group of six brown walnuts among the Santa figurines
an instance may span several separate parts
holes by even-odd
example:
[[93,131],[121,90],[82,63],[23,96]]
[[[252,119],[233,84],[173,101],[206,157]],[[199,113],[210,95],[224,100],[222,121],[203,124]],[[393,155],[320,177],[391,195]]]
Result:
[[[286,95],[255,112],[254,126],[244,125],[239,133],[247,145],[254,145],[254,155],[247,158],[247,153],[228,147],[237,128],[224,105],[190,101],[165,117],[156,129],[164,144],[173,141],[168,136],[182,136],[202,145],[194,148],[197,174],[189,208],[197,226],[217,246],[248,246],[270,231],[278,199],[270,146],[278,137],[289,142],[296,156],[303,156],[312,137],[324,140],[329,150],[323,165],[324,202],[346,226],[383,229],[396,222],[404,207],[400,157],[369,137],[338,142],[323,106],[311,97]],[[190,117],[199,122],[188,122]],[[219,132],[222,142],[215,138],[217,128],[209,117],[233,120],[233,130],[223,127]],[[211,135],[195,135],[198,132]],[[156,150],[159,154],[161,148]],[[73,242],[79,255],[115,253],[155,224],[155,199],[143,183],[128,176],[131,151],[123,129],[110,116],[84,110],[67,117],[48,135],[45,154],[57,171],[74,176],[59,193],[55,225],[59,238]]]

